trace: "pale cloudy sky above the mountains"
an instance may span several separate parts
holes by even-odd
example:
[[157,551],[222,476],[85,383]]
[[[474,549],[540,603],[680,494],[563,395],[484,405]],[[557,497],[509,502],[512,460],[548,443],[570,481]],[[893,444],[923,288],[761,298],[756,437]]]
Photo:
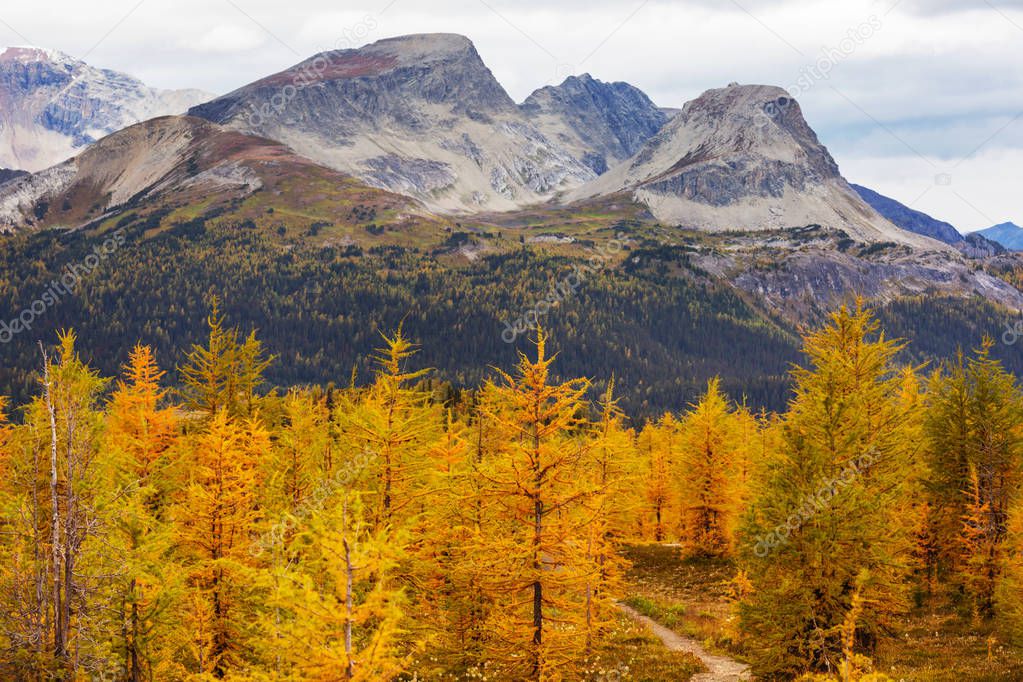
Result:
[[517,100],[590,73],[680,106],[781,85],[849,180],[963,230],[1023,224],[1023,0],[49,0],[0,44],[223,93],[324,49],[469,36]]

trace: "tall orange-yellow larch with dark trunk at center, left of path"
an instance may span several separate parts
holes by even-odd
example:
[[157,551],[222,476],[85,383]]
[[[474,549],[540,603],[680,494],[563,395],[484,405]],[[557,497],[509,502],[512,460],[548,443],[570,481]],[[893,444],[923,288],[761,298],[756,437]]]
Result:
[[487,473],[504,533],[494,538],[503,553],[496,628],[505,642],[495,663],[503,674],[529,680],[570,677],[584,654],[592,569],[583,531],[583,502],[596,492],[584,475],[589,382],[552,382],[552,362],[540,330],[536,359],[520,355],[515,374],[499,372],[482,407],[504,441]]

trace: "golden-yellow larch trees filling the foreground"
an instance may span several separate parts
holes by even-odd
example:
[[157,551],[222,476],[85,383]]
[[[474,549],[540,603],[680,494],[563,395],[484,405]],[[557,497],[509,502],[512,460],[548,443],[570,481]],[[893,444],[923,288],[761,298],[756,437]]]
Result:
[[216,307],[180,396],[147,347],[113,385],[42,349],[0,420],[0,677],[598,679],[635,542],[735,560],[767,676],[859,679],[927,598],[1023,639],[1023,396],[988,345],[925,374],[842,309],[785,413],[711,380],[636,430],[542,333],[460,395],[385,338],[368,385],[283,394]]

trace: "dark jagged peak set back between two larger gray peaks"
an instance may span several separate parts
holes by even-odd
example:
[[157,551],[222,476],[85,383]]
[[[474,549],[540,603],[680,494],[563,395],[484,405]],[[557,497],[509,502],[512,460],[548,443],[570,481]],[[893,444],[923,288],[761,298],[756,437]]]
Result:
[[589,74],[540,88],[521,108],[598,175],[638,151],[669,118],[638,88],[604,83]]

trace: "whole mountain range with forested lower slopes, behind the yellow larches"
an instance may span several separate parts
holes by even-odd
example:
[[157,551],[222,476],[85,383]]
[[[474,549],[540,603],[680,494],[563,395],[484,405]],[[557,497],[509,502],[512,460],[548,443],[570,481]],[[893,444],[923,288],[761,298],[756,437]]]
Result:
[[[24,136],[0,135],[0,160],[16,156],[0,167],[34,171],[0,172],[0,310],[110,231],[131,247],[12,342],[0,394],[33,385],[48,324],[116,348],[155,320],[146,333],[178,360],[214,291],[265,330],[282,385],[336,379],[406,319],[440,349],[428,364],[474,383],[465,359],[514,361],[502,336],[585,264],[586,286],[545,306],[546,322],[574,339],[568,372],[617,374],[628,357],[618,376],[643,413],[715,374],[784,405],[800,325],[854,294],[919,339],[919,359],[1023,310],[1019,257],[850,185],[780,88],[731,84],[673,110],[582,75],[517,104],[469,39],[431,34],[316,55],[153,118],[159,97],[136,98],[137,82],[4,54],[0,92],[20,84],[18,99],[0,96],[4,130],[35,126],[34,158],[56,162],[27,164],[10,144]],[[74,115],[54,73],[90,75],[69,82],[94,103]],[[123,361],[99,358],[105,371]]]

